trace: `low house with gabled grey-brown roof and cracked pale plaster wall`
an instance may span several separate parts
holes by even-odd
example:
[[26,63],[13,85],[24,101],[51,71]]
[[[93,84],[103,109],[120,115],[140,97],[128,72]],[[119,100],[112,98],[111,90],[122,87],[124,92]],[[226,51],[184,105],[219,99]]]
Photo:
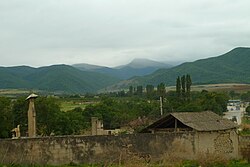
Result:
[[[175,133],[172,145],[178,141],[177,145],[189,148],[193,156],[210,153],[227,158],[238,157],[237,124],[211,111],[170,113],[144,128],[141,133]],[[179,135],[181,137],[178,134],[182,134]]]

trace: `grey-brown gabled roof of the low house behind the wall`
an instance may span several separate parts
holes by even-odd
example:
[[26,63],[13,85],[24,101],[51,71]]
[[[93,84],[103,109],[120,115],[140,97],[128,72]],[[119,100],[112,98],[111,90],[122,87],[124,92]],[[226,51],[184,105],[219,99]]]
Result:
[[196,131],[219,131],[219,130],[234,129],[237,127],[237,125],[234,122],[228,119],[224,119],[212,111],[175,112],[175,113],[170,113],[167,116],[149,125],[145,129],[143,129],[142,132],[146,132],[149,129],[159,128],[161,125],[169,121],[171,117],[176,118],[184,125]]

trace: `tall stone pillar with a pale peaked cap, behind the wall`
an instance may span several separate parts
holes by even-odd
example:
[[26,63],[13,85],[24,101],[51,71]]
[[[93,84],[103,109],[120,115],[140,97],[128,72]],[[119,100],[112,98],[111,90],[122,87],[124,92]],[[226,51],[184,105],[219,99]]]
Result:
[[28,136],[36,137],[36,110],[35,110],[35,99],[38,96],[35,94],[29,95],[26,100],[29,100],[28,110]]

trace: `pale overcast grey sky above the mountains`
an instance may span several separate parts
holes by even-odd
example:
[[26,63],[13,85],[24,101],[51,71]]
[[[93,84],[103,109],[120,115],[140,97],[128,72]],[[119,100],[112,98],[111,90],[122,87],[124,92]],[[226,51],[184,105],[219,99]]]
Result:
[[1,0],[0,66],[186,62],[250,45],[249,0]]

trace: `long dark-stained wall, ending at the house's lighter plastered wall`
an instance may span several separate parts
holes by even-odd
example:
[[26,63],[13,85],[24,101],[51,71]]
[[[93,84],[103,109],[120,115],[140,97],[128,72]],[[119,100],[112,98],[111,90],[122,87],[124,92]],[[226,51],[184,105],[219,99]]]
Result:
[[0,140],[2,164],[121,163],[157,161],[175,153],[192,158],[194,133],[64,136]]

